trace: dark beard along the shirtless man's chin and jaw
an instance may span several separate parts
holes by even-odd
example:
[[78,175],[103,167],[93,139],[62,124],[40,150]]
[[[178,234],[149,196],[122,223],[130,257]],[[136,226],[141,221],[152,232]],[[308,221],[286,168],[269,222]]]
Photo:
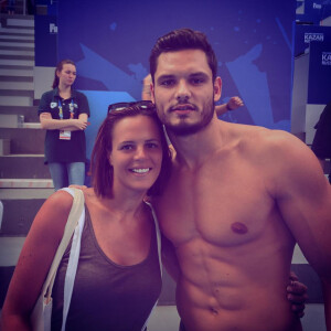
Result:
[[178,125],[171,125],[166,121],[164,127],[168,132],[172,132],[175,136],[194,135],[194,134],[201,131],[202,129],[204,129],[211,122],[211,120],[214,116],[214,108],[215,108],[215,105],[214,105],[214,100],[212,99],[204,106],[203,113],[202,113],[202,118],[200,121],[197,121],[195,124],[188,124],[188,122],[182,121]]

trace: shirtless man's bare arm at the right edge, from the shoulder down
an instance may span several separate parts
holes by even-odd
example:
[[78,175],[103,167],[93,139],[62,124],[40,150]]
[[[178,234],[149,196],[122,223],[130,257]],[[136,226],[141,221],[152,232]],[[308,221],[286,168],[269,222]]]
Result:
[[[331,330],[331,186],[319,161],[287,135],[274,149],[275,196],[281,216],[322,281],[327,328]],[[278,172],[278,170],[280,170]]]

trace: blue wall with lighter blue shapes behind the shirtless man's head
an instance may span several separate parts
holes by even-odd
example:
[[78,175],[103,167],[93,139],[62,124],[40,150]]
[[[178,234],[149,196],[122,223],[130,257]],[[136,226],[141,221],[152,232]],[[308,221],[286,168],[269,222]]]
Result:
[[295,0],[60,1],[58,58],[76,62],[76,88],[99,92],[97,108],[90,99],[86,134],[93,139],[108,104],[140,99],[157,38],[178,28],[200,30],[218,57],[221,102],[239,95],[245,103],[223,119],[290,130],[295,18]]

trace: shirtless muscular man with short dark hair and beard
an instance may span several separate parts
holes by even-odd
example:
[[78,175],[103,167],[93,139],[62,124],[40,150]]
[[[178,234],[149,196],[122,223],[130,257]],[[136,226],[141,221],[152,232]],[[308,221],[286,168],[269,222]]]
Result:
[[152,100],[177,150],[154,205],[180,265],[181,330],[301,330],[286,298],[298,242],[322,280],[330,331],[331,186],[292,135],[217,119],[216,70],[204,34],[188,29],[150,56]]

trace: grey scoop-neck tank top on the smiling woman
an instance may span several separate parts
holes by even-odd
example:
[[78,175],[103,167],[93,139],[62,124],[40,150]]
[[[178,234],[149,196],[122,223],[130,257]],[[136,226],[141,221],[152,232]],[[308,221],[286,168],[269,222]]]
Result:
[[[66,331],[141,331],[162,286],[156,231],[152,231],[149,254],[143,261],[119,266],[99,247],[86,206],[85,215]],[[53,288],[52,331],[61,330],[70,246]]]

